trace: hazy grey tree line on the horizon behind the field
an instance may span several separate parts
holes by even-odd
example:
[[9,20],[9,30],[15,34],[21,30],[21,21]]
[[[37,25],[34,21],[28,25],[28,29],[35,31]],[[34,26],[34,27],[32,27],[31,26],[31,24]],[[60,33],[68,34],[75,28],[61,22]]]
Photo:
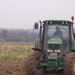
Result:
[[0,41],[25,41],[35,42],[38,38],[38,32],[30,29],[1,29]]

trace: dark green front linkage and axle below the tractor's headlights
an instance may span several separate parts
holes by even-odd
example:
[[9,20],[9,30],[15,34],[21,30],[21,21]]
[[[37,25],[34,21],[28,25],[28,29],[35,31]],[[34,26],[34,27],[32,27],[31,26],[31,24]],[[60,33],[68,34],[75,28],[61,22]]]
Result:
[[55,67],[62,67],[63,64],[60,63],[61,61],[61,57],[60,56],[47,56],[45,58],[45,61],[46,62],[41,62],[42,60],[39,60],[39,67],[42,67],[42,66],[47,66],[47,67],[52,67],[52,68],[55,68]]

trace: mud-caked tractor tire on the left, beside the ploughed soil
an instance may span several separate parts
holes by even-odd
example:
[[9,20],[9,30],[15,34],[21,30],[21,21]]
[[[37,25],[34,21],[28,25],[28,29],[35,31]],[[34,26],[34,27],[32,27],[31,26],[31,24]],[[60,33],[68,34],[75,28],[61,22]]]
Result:
[[41,55],[42,53],[40,51],[33,51],[27,55],[25,60],[25,69],[27,75],[44,75],[45,68],[44,67],[38,68],[36,66]]

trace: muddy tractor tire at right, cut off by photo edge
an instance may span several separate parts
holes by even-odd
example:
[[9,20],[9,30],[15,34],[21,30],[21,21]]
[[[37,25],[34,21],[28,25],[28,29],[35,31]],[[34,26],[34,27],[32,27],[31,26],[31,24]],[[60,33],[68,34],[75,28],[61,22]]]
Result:
[[75,53],[69,53],[64,58],[64,75],[75,75]]

